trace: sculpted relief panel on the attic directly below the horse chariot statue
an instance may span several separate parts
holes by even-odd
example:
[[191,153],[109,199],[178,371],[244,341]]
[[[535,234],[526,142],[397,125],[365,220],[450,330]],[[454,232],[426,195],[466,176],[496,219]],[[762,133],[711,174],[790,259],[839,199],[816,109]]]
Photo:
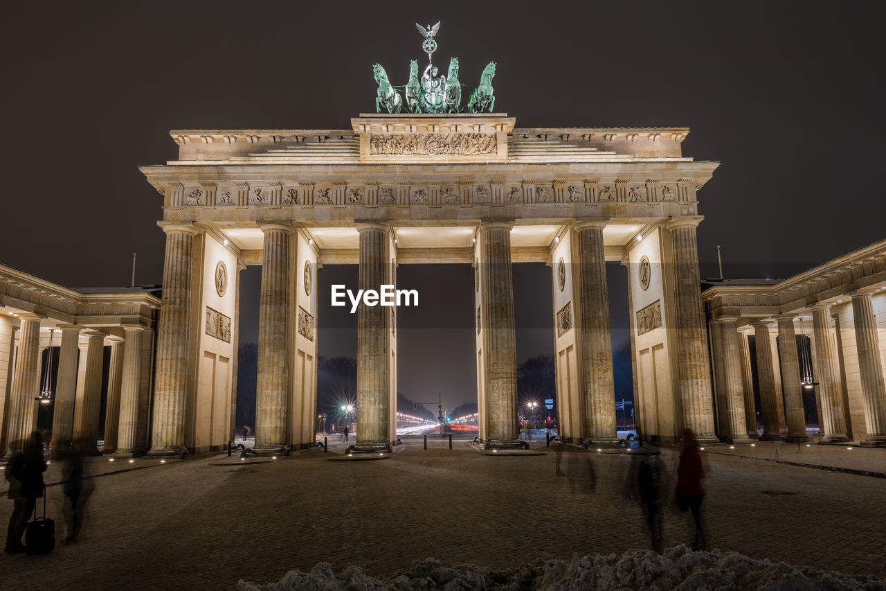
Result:
[[489,133],[377,134],[369,139],[369,153],[457,156],[498,154],[498,142]]

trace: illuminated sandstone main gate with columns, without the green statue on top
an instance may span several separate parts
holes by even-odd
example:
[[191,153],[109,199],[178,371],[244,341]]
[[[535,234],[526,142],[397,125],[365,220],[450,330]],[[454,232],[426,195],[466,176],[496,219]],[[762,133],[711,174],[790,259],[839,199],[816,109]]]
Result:
[[[643,436],[716,441],[696,225],[717,163],[682,154],[685,128],[516,123],[394,112],[348,130],[172,131],[178,160],[141,168],[167,240],[150,453],[227,444],[250,264],[262,266],[256,453],[315,445],[315,327],[330,297],[315,279],[329,264],[359,265],[354,291],[396,285],[400,264],[473,266],[479,435],[492,448],[520,445],[511,264],[525,262],[553,277],[561,435],[618,443],[606,263],[625,264],[635,364],[649,365],[635,391],[657,416]],[[355,451],[377,452],[395,437],[397,313],[357,313]]]

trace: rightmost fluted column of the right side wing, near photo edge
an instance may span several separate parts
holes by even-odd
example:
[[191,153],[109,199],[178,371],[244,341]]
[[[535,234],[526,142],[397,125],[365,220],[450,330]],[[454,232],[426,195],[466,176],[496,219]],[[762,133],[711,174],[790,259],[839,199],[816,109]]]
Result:
[[865,399],[867,436],[861,445],[886,445],[886,384],[883,384],[880,343],[871,295],[855,292],[852,298],[852,321],[855,324],[855,347],[859,352],[861,393]]

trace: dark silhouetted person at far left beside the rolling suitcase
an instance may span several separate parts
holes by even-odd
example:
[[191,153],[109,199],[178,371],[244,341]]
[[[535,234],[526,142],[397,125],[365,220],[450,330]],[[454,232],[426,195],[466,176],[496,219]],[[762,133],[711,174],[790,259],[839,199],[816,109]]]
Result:
[[24,449],[15,453],[5,470],[9,481],[8,497],[13,500],[12,516],[6,530],[6,552],[24,552],[21,537],[25,534],[27,518],[34,512],[37,499],[43,496],[43,439],[35,431]]

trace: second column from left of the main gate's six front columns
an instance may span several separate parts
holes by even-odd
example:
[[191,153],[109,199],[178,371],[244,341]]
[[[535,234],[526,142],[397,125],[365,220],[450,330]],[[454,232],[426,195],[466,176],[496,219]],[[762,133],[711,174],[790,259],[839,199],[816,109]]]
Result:
[[259,376],[255,393],[255,453],[280,453],[286,441],[291,225],[263,224],[259,303]]

